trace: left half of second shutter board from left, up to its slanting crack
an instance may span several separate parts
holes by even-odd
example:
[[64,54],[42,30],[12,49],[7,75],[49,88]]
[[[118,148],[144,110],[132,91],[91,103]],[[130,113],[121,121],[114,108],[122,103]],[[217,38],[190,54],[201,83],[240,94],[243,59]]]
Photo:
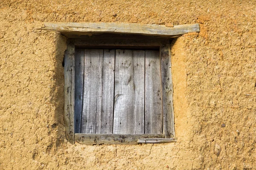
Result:
[[96,133],[97,96],[102,84],[102,49],[84,50],[84,96],[81,133]]

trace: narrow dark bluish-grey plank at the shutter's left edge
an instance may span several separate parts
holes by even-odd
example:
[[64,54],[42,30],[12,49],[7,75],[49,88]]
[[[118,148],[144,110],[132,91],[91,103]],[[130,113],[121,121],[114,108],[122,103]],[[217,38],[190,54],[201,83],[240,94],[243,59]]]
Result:
[[81,115],[84,88],[84,49],[76,49],[75,54],[75,133],[81,132]]

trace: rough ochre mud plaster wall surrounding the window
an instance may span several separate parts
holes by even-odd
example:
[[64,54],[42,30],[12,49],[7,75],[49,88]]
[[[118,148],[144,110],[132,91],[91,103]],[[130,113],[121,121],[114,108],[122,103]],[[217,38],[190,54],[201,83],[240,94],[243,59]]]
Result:
[[[1,0],[0,169],[255,169],[255,19],[253,0]],[[66,39],[42,22],[200,23],[172,43],[178,142],[68,143]]]

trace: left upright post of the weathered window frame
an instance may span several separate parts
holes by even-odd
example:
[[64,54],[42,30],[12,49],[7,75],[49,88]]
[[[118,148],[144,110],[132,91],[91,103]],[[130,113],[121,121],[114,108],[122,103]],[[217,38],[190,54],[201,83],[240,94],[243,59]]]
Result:
[[70,143],[74,143],[75,45],[73,42],[67,42],[64,63],[64,119],[66,123],[66,138]]

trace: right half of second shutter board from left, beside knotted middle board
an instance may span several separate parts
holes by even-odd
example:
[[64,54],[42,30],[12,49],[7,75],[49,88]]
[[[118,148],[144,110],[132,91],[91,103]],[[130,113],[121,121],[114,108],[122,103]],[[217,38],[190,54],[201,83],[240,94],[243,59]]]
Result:
[[102,71],[97,94],[96,133],[112,133],[115,50],[104,49],[104,57],[100,60],[98,69]]

